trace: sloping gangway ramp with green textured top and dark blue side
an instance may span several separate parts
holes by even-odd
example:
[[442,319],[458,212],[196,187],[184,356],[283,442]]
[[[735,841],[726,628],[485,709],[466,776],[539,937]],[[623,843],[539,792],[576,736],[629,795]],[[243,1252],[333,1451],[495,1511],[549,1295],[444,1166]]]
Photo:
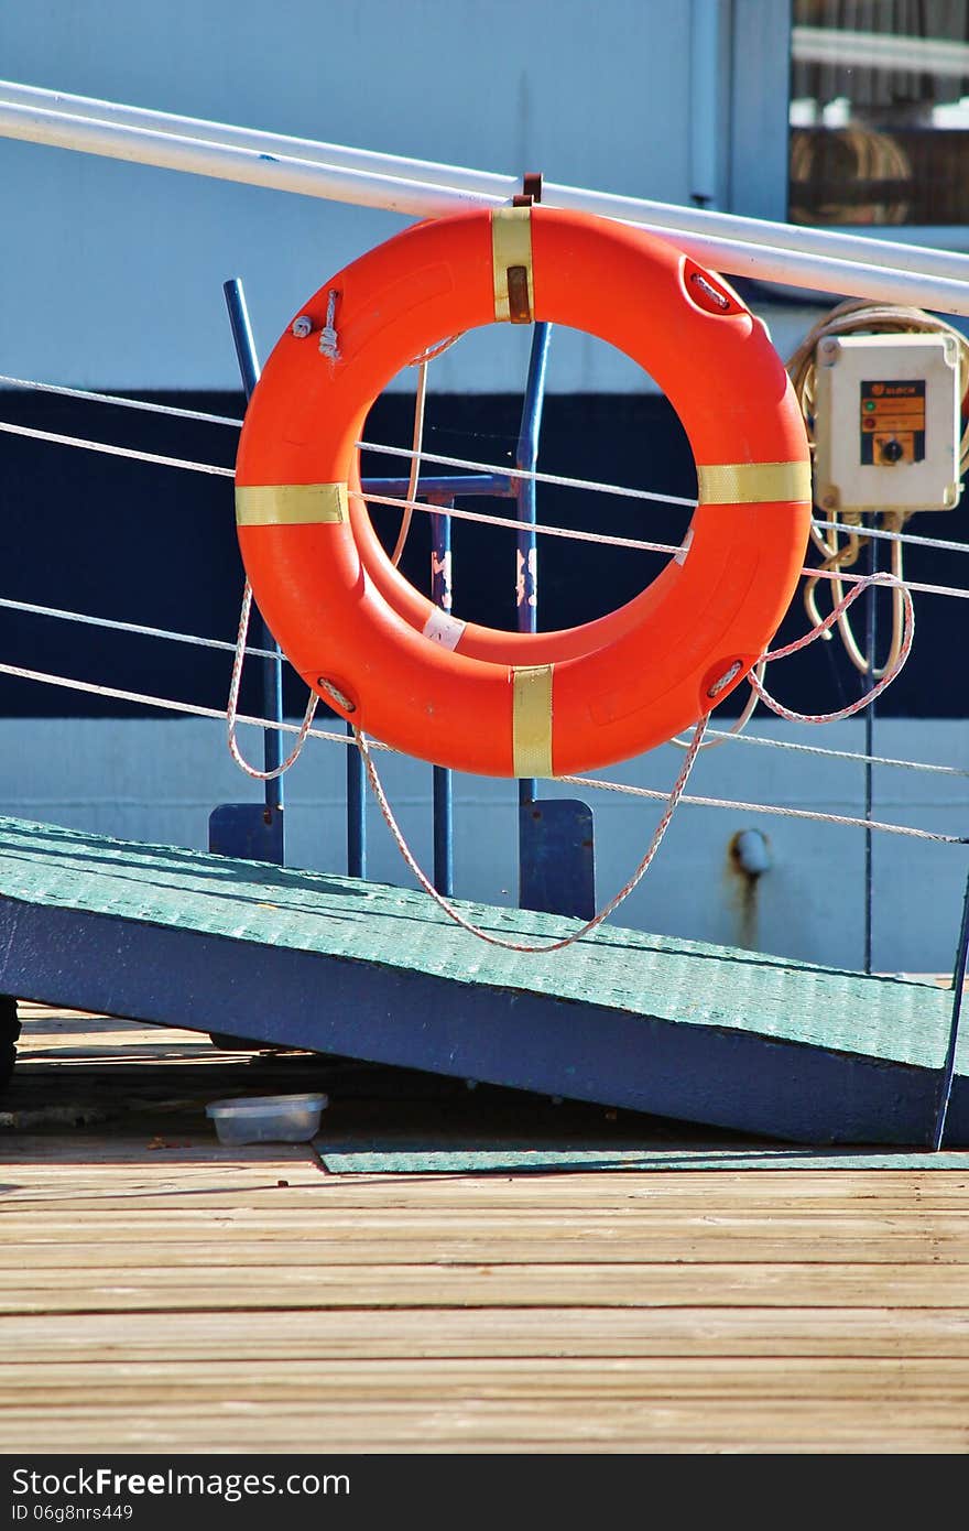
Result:
[[[459,908],[513,939],[576,929]],[[928,983],[617,926],[508,952],[418,891],[20,819],[0,819],[0,991],[798,1142],[912,1147],[931,1142],[951,1018]]]

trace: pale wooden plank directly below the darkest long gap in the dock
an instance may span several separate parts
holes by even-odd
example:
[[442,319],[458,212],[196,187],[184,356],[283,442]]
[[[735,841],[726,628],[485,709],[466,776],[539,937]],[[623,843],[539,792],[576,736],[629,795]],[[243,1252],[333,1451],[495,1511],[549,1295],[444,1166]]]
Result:
[[[528,1356],[969,1356],[969,1307],[473,1307],[0,1318],[3,1353],[35,1363],[168,1364]],[[24,1375],[26,1373],[24,1370]]]

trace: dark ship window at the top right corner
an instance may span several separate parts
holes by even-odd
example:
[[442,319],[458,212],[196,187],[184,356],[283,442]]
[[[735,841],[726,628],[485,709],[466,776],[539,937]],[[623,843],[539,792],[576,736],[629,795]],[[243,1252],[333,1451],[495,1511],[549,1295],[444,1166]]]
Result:
[[969,224],[969,0],[794,0],[788,219]]

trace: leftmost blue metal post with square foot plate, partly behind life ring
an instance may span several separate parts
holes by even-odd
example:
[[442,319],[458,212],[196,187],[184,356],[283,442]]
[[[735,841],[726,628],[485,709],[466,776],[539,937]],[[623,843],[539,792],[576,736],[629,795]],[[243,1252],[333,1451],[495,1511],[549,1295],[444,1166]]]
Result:
[[[253,328],[239,277],[223,282],[225,305],[236,344],[236,360],[246,401],[259,383],[259,357]],[[253,606],[250,625],[256,646],[279,654],[277,660],[260,660],[263,718],[283,721],[283,664],[279,645],[266,628],[262,615]],[[263,729],[263,770],[277,770],[282,764],[282,733],[279,729]],[[251,860],[276,862],[282,867],[283,844],[283,784],[277,776],[265,782],[265,805],[251,802],[223,802],[208,819],[208,848],[222,856],[245,856]]]

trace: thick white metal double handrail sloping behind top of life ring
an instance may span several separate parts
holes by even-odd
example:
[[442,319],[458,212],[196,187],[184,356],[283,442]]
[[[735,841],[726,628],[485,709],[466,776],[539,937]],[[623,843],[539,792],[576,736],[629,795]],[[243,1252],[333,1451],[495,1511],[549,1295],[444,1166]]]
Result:
[[[0,81],[0,136],[416,217],[494,207],[514,176],[315,144]],[[733,276],[969,315],[969,256],[546,182],[553,207],[674,234]]]

